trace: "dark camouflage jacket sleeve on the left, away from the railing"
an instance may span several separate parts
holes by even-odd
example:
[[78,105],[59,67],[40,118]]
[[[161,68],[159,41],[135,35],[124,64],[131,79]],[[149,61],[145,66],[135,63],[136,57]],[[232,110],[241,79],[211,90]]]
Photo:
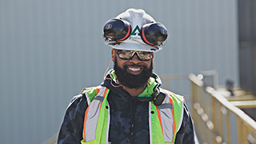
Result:
[[58,144],[77,144],[81,142],[87,106],[84,94],[74,96],[66,109],[66,114],[58,133]]

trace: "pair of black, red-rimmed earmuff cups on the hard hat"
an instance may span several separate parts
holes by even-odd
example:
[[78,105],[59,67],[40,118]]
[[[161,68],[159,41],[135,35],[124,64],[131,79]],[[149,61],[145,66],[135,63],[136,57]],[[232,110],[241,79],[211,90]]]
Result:
[[[106,41],[122,42],[130,38],[131,29],[129,22],[113,18],[104,25],[104,37]],[[142,26],[140,36],[142,41],[150,46],[161,46],[166,41],[167,30],[161,23],[147,23]]]

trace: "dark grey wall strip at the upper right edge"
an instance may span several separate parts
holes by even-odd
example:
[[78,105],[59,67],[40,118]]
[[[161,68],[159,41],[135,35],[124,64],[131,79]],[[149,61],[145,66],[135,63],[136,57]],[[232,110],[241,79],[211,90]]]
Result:
[[240,86],[256,95],[256,1],[238,0]]

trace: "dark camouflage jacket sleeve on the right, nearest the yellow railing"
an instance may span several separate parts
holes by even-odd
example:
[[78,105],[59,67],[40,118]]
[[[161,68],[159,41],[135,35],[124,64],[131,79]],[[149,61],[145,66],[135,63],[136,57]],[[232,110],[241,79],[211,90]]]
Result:
[[190,112],[184,105],[182,126],[176,134],[175,144],[194,144],[194,124]]

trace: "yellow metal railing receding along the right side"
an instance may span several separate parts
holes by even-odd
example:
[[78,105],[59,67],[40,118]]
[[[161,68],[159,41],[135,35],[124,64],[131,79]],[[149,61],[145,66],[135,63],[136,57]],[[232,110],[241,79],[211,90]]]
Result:
[[[190,74],[189,78],[192,117],[200,143],[256,143],[256,122],[252,118],[217,90],[209,86],[205,88],[194,74]],[[256,103],[246,102],[248,106],[256,107]]]

